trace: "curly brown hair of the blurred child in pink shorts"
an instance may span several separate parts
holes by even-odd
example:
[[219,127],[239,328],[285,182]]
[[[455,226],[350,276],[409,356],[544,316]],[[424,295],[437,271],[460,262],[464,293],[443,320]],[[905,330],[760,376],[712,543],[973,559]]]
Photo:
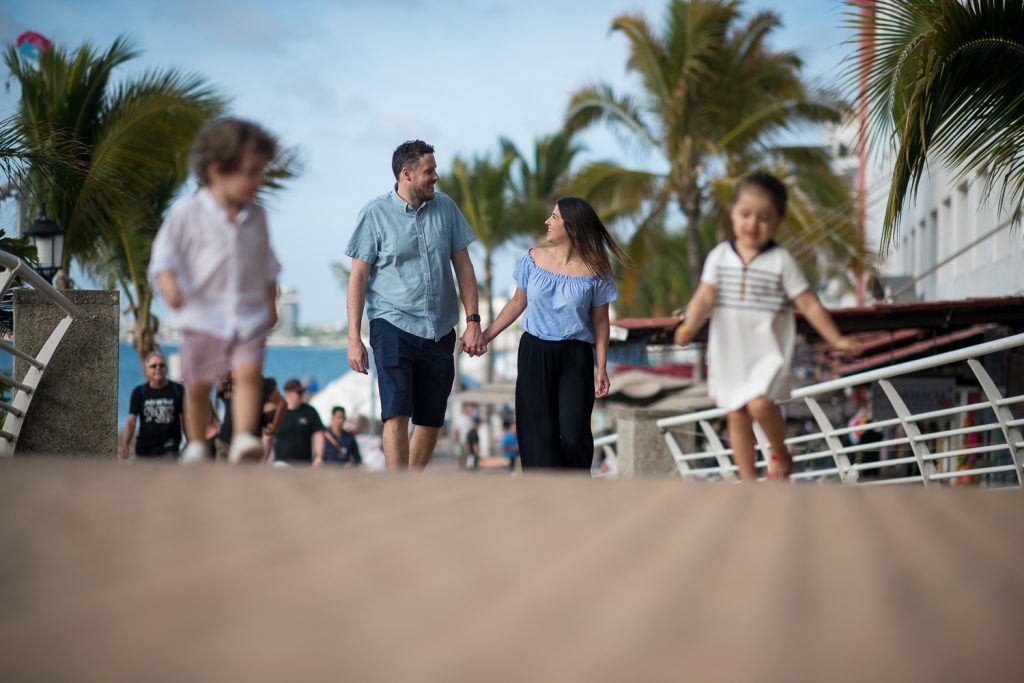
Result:
[[224,118],[208,123],[199,132],[191,153],[200,184],[210,184],[211,166],[221,173],[238,171],[247,152],[269,162],[278,156],[278,138],[252,121]]

